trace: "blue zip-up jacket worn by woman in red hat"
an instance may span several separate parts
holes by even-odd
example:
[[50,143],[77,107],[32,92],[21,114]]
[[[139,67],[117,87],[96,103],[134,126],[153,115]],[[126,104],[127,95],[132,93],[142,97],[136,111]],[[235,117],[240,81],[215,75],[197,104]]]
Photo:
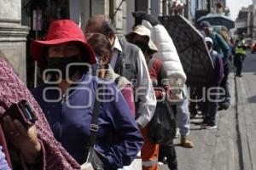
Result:
[[[90,123],[100,79],[84,75],[60,100],[56,85],[42,84],[32,90],[38,100],[55,139],[80,164],[84,163],[86,144],[90,139]],[[112,169],[129,165],[143,146],[143,137],[123,95],[113,82],[103,81],[99,111],[96,150],[101,152]],[[113,137],[113,138],[112,138]]]

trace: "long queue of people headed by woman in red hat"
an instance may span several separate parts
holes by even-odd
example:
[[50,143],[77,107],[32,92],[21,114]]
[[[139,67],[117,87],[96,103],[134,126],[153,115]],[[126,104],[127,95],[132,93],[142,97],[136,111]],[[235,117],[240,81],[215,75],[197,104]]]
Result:
[[[72,20],[53,21],[46,40],[31,44],[32,57],[44,75],[44,83],[31,93],[8,62],[0,59],[0,113],[27,99],[38,115],[38,121],[28,129],[9,116],[3,117],[1,145],[9,162],[3,167],[79,169],[88,156],[90,134],[96,132],[95,150],[103,157],[105,170],[156,170],[158,161],[177,169],[174,145],[150,142],[148,122],[160,99],[178,99],[171,103],[181,132],[180,144],[194,147],[189,139],[186,75],[166,28],[152,15],[137,12],[133,16],[136,24],[126,40],[117,37],[113,21],[102,14],[91,17],[84,32]],[[216,92],[222,84],[227,104],[230,48],[211,26],[204,31],[214,65],[206,88]],[[97,102],[100,105],[95,108]],[[98,123],[93,124],[96,111]],[[216,100],[206,100],[201,111],[205,115],[203,126],[216,128]],[[142,164],[137,166],[140,151]],[[94,161],[96,166],[99,160]]]

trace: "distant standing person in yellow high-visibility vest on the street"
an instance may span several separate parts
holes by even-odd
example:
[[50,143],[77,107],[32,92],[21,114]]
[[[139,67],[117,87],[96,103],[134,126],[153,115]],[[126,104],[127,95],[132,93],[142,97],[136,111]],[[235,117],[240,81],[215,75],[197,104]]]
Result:
[[246,58],[246,46],[245,46],[245,33],[241,33],[239,40],[236,41],[235,59],[234,64],[236,66],[236,77],[242,77],[242,62]]

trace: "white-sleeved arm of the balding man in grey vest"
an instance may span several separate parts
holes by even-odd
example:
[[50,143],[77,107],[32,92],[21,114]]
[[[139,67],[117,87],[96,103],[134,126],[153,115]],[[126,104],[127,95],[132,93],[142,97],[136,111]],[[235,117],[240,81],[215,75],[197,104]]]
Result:
[[137,90],[135,97],[138,100],[138,105],[136,122],[140,127],[145,127],[154,114],[156,98],[149,77],[148,66],[141,50],[137,58],[137,68]]

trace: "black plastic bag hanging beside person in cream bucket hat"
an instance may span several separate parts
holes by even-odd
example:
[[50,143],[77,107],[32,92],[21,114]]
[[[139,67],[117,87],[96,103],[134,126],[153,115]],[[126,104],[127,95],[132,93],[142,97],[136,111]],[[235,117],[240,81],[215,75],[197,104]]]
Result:
[[176,121],[167,100],[158,102],[154,116],[148,123],[148,139],[153,144],[172,144],[176,134]]

